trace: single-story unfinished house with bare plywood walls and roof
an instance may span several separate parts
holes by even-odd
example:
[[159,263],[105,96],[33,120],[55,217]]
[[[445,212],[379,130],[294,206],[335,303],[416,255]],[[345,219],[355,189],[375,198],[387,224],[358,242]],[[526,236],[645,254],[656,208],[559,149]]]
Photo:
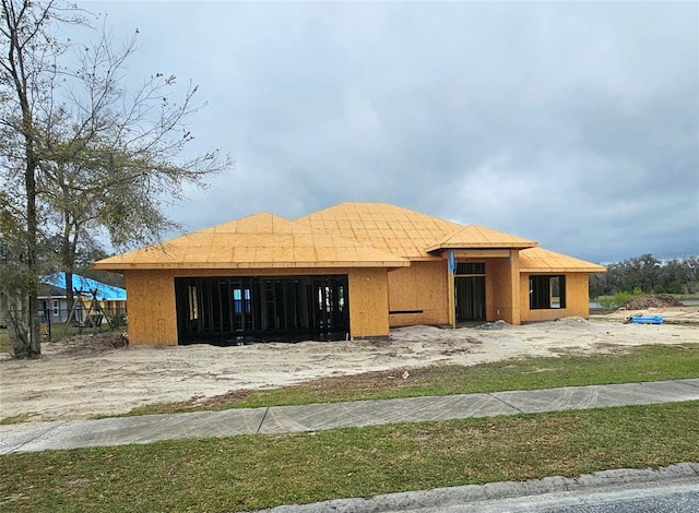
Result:
[[603,266],[383,203],[261,213],[93,264],[122,273],[131,344],[386,337],[413,324],[589,315]]

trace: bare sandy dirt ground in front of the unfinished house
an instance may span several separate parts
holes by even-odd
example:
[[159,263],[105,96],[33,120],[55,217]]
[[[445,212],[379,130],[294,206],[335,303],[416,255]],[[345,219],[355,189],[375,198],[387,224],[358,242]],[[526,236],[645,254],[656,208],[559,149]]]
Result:
[[[662,325],[624,324],[630,314]],[[430,365],[476,365],[523,356],[606,353],[626,346],[699,343],[697,307],[620,311],[587,321],[491,329],[411,326],[390,341],[303,342],[249,346],[118,345],[118,334],[74,337],[43,346],[38,360],[0,354],[0,418],[84,419],[153,403],[212,397],[230,391],[295,384],[317,378]]]

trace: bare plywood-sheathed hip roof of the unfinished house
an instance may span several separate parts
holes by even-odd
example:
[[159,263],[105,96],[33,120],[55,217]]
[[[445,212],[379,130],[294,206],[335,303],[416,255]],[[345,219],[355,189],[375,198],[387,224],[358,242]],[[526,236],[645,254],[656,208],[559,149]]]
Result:
[[260,213],[95,262],[95,269],[405,267],[446,249],[521,249],[524,272],[603,272],[532,240],[386,203],[341,203],[289,220]]

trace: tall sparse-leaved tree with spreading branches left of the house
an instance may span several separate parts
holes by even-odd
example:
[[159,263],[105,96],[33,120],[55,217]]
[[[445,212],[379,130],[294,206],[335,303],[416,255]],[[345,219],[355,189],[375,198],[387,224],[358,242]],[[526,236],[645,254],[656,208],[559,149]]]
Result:
[[135,88],[125,85],[135,34],[116,50],[106,29],[88,45],[60,44],[54,31],[82,23],[85,13],[56,1],[2,0],[2,9],[1,123],[5,140],[19,145],[1,148],[0,176],[13,192],[0,195],[7,219],[0,238],[22,241],[13,244],[13,265],[5,265],[14,285],[3,289],[7,305],[25,315],[9,315],[14,355],[32,357],[40,353],[42,237],[60,240],[57,265],[68,274],[70,289],[81,243],[97,234],[117,248],[158,240],[174,226],[163,213],[165,204],[181,198],[185,184],[204,187],[208,177],[232,163],[217,152],[182,158],[192,141],[186,122],[199,108],[197,87],[190,85],[176,99],[175,77],[162,73]]

